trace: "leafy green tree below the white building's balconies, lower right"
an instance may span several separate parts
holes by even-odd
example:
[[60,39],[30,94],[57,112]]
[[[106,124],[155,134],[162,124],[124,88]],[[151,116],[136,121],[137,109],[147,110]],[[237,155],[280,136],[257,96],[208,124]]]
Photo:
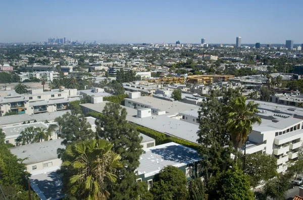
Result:
[[275,177],[277,159],[269,154],[249,154],[246,156],[244,172],[248,175],[250,186],[257,187],[261,181]]

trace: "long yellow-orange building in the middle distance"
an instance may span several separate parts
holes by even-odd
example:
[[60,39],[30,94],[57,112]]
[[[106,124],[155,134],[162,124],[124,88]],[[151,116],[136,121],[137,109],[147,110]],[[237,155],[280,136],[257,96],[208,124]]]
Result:
[[233,78],[234,75],[192,75],[186,77],[187,83],[216,83],[220,81],[227,81],[229,78]]

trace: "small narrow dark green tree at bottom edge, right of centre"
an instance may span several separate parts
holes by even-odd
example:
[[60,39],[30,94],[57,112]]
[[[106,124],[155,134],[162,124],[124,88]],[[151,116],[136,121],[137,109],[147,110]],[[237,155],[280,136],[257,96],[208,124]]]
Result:
[[204,183],[200,178],[189,181],[188,185],[189,200],[204,199]]

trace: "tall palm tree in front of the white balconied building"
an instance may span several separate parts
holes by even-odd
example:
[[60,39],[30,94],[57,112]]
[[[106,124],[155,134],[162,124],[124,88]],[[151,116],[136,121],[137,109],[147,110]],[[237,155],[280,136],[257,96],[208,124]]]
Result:
[[246,97],[240,96],[232,99],[226,106],[227,122],[226,126],[230,131],[233,146],[236,149],[235,162],[239,152],[239,147],[246,143],[248,134],[252,130],[252,124],[261,124],[261,118],[257,117],[258,104],[250,101],[246,105]]

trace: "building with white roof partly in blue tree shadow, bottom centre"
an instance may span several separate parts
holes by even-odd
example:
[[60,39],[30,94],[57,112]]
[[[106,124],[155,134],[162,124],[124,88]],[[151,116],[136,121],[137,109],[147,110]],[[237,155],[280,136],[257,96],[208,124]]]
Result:
[[148,189],[153,187],[153,182],[159,181],[156,175],[160,170],[169,165],[182,170],[187,181],[200,177],[198,161],[201,159],[192,148],[170,142],[145,148],[144,151],[139,159],[137,182],[146,182]]

